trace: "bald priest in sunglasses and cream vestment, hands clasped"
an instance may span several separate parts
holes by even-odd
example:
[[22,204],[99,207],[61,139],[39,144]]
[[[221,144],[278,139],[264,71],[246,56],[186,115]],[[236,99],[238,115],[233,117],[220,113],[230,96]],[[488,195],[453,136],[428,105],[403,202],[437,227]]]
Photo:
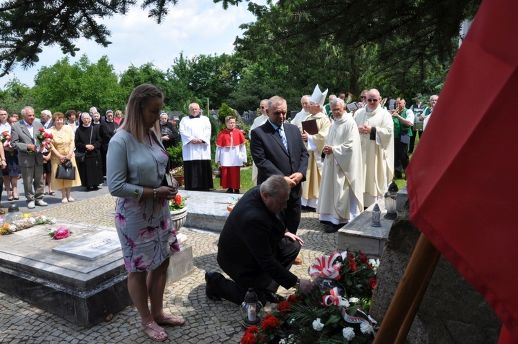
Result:
[[375,88],[367,93],[367,107],[356,111],[363,160],[363,207],[383,199],[383,193],[394,177],[394,122],[380,106],[381,97]]

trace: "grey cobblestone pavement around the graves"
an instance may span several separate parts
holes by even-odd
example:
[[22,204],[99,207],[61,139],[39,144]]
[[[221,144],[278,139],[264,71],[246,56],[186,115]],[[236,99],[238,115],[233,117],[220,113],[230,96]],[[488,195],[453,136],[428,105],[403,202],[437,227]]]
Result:
[[[21,187],[21,183],[19,183]],[[23,190],[23,187],[20,188]],[[115,198],[106,194],[104,187],[95,193],[80,195],[77,202],[37,207],[32,213],[85,224],[114,227]],[[57,199],[58,195],[55,196]],[[102,195],[99,195],[102,194]],[[94,196],[94,197],[92,197]],[[80,200],[83,198],[84,200]],[[23,195],[21,195],[23,200]],[[48,198],[46,198],[46,201]],[[22,209],[26,210],[26,209]],[[194,270],[181,280],[166,286],[164,309],[186,318],[181,327],[166,327],[169,339],[164,343],[239,343],[240,327],[238,306],[229,301],[215,302],[205,297],[204,273],[218,269],[216,254],[219,233],[182,229],[193,247]],[[307,267],[315,256],[334,251],[338,247],[338,233],[324,233],[316,213],[303,211],[298,235],[305,245],[300,251],[303,265],[294,265],[291,271],[307,278]],[[1,240],[1,237],[0,237]],[[1,283],[1,281],[0,281]],[[280,287],[279,294],[290,291]],[[266,309],[273,307],[268,304]],[[153,343],[140,329],[140,317],[133,305],[113,314],[111,320],[94,327],[82,327],[34,307],[19,298],[0,292],[0,343]]]

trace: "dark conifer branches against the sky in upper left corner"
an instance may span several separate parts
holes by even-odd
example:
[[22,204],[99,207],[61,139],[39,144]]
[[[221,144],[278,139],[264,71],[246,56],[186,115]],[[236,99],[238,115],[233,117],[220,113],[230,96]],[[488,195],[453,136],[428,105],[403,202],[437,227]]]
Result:
[[[168,14],[169,5],[178,0],[144,0],[141,8],[157,23]],[[23,68],[39,61],[42,46],[59,44],[65,54],[75,56],[79,37],[94,39],[102,46],[111,32],[97,19],[126,15],[137,0],[8,0],[0,7],[0,77],[17,64]]]

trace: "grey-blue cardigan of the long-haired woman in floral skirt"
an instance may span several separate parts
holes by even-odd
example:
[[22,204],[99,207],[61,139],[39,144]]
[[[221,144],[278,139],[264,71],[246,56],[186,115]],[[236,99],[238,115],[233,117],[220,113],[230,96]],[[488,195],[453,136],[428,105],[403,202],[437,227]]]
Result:
[[[157,144],[163,148],[160,139]],[[165,170],[160,172],[164,174]],[[162,185],[162,180],[157,180],[156,175],[157,166],[147,144],[138,142],[127,131],[117,131],[110,140],[106,155],[106,178],[111,195],[138,201],[144,187]]]

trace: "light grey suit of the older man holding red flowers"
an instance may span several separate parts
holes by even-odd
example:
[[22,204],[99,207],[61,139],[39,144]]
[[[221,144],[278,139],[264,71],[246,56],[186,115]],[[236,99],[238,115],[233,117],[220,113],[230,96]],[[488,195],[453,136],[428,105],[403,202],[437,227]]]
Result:
[[[39,122],[32,122],[34,136],[38,135],[39,128],[44,128],[44,126]],[[35,143],[36,141],[30,135],[25,121],[22,120],[12,125],[11,146],[19,152],[18,162],[27,202],[43,200],[44,198],[43,155],[27,149],[29,144]]]

